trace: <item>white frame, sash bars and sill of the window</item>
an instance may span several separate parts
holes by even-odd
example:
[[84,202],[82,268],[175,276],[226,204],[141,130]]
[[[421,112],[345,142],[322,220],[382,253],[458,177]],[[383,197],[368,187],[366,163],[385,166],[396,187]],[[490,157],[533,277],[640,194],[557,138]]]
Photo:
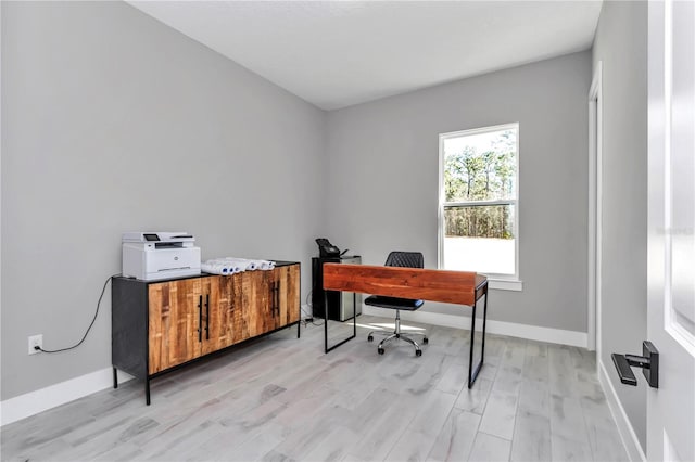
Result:
[[[444,194],[444,141],[452,138],[469,137],[472,134],[484,134],[492,131],[516,130],[516,181],[515,197],[513,200],[497,201],[464,201],[464,202],[445,202]],[[514,206],[514,236],[515,236],[515,256],[514,256],[514,274],[493,274],[488,273],[490,288],[501,288],[506,291],[521,291],[523,283],[519,279],[519,123],[495,125],[492,127],[473,128],[469,130],[452,131],[448,133],[440,133],[439,136],[439,208],[438,208],[438,268],[444,269],[444,208],[445,207],[468,207],[468,206],[489,206],[489,205],[513,205]]]

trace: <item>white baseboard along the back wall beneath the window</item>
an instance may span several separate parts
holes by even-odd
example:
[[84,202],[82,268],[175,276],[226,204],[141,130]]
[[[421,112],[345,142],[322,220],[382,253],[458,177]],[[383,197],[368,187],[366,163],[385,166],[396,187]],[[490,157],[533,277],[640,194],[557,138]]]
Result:
[[[375,308],[368,305],[363,305],[362,312],[365,315],[389,318],[393,316],[393,310]],[[468,326],[470,325],[469,316],[444,315],[425,310],[401,311],[401,318],[405,321],[442,325],[444,328],[468,329]],[[482,325],[476,325],[476,331],[479,330],[482,330]],[[541,328],[539,325],[517,324],[514,322],[495,321],[493,319],[488,319],[485,330],[490,334],[507,335],[510,337],[527,338],[530,341],[547,342],[552,344],[561,344],[586,348],[585,332]]]

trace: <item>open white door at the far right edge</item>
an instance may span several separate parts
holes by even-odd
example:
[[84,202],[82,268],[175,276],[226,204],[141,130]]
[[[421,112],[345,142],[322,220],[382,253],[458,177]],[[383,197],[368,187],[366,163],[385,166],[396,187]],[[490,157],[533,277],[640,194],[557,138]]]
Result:
[[649,2],[647,63],[647,458],[695,461],[695,2]]

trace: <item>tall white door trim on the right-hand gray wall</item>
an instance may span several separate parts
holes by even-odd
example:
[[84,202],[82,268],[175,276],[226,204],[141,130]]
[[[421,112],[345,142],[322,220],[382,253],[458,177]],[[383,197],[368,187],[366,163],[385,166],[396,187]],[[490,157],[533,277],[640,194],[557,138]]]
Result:
[[586,347],[601,355],[601,279],[603,233],[603,62],[589,90],[589,280]]

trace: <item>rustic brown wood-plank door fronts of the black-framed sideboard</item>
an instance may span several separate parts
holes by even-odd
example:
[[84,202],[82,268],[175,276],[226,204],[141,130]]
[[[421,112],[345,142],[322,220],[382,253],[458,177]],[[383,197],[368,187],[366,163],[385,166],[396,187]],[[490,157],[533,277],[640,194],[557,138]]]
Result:
[[298,321],[299,268],[150,284],[149,373]]

